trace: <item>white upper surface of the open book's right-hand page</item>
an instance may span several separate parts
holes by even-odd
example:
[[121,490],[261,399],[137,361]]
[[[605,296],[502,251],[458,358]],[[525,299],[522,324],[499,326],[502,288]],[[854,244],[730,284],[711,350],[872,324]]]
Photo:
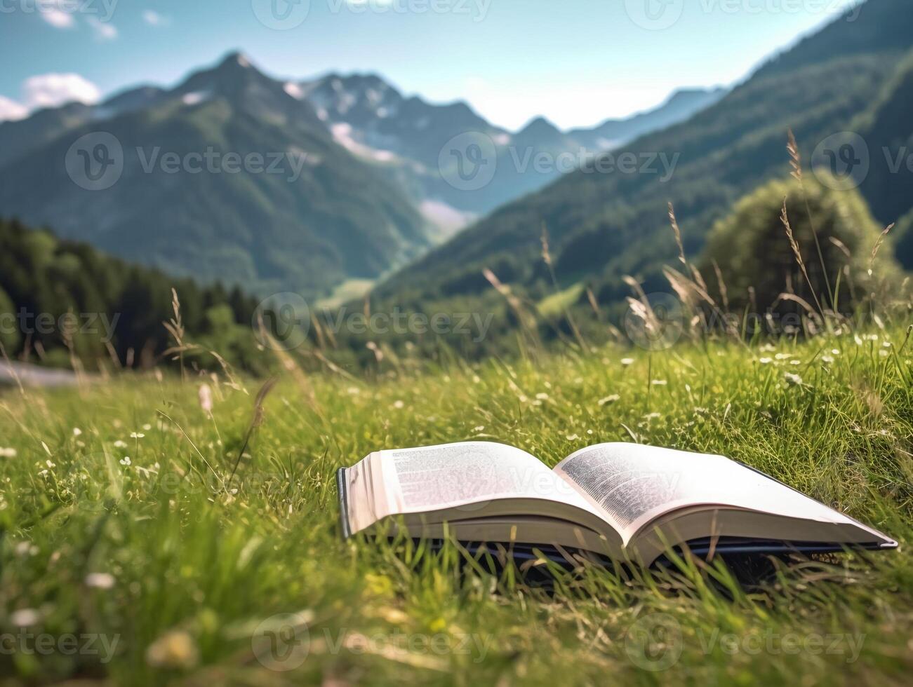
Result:
[[572,453],[555,467],[555,472],[598,505],[625,542],[656,516],[688,505],[723,505],[860,526],[834,509],[721,455],[636,443],[603,443]]

